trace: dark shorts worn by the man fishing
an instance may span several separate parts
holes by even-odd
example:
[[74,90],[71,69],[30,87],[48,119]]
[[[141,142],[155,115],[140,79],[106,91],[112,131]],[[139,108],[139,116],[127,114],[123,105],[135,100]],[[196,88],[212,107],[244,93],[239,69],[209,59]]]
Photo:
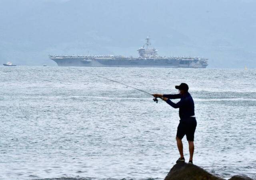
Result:
[[194,133],[196,131],[196,118],[189,117],[185,120],[180,120],[177,129],[177,137],[182,139],[186,135],[188,141],[194,141]]

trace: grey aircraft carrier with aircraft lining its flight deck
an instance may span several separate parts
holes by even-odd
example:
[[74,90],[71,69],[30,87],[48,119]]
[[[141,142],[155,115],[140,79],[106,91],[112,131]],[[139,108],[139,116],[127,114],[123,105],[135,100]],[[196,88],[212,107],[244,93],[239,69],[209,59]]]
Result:
[[150,38],[138,49],[139,57],[114,55],[49,55],[58,66],[85,67],[167,67],[167,68],[206,68],[208,59],[200,57],[159,56],[155,48],[150,48]]

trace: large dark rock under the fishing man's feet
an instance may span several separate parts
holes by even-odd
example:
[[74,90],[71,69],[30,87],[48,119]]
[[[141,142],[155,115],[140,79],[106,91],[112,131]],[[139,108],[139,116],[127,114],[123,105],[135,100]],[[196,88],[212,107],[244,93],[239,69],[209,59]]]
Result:
[[175,164],[164,180],[224,180],[206,170],[185,162]]

